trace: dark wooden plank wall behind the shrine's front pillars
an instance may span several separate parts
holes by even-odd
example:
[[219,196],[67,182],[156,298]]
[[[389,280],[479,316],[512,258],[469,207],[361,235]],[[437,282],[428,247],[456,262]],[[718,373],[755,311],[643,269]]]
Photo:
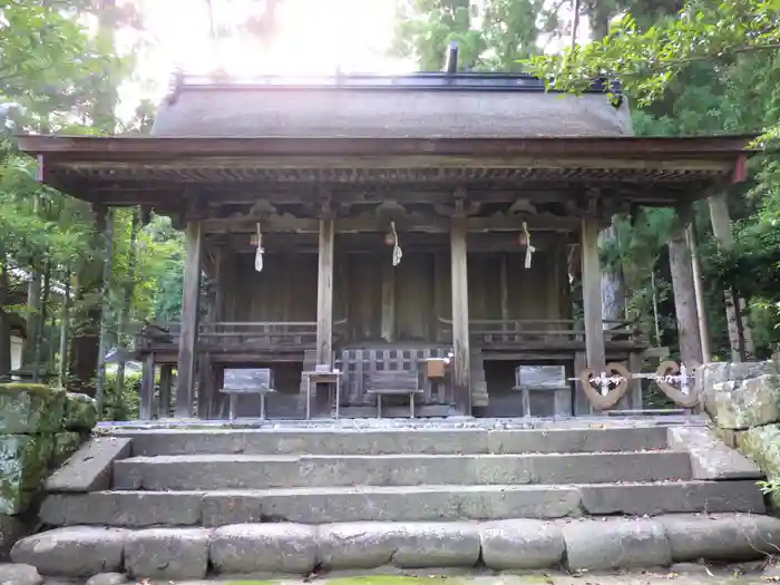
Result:
[[[530,269],[519,250],[468,260],[469,319],[571,316],[565,259],[555,250],[534,254]],[[316,255],[266,254],[260,273],[251,254],[225,254],[223,262],[224,321],[316,321]],[[390,253],[337,252],[334,271],[333,316],[347,318],[348,344],[445,341],[438,318],[451,319],[449,254],[404,251],[393,267]],[[388,302],[391,322],[383,328]]]

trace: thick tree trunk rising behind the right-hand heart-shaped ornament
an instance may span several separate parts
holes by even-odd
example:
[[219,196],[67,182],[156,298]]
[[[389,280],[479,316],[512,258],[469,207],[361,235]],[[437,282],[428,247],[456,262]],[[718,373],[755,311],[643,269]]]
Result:
[[691,368],[702,362],[699,312],[691,264],[691,251],[685,237],[690,224],[690,207],[677,209],[677,217],[669,240],[669,267],[674,291],[674,313],[677,320],[677,340],[682,362]]

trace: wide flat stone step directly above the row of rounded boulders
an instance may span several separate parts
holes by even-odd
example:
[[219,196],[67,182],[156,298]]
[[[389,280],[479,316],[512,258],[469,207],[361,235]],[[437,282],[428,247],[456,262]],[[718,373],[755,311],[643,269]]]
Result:
[[763,514],[753,480],[585,484],[569,486],[384,486],[218,491],[55,494],[41,506],[49,526],[222,526],[294,521],[440,521],[655,516],[680,513]]

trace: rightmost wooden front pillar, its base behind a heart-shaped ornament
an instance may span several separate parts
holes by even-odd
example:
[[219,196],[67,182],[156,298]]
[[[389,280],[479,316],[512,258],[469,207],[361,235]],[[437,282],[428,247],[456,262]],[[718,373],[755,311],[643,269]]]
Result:
[[598,220],[583,217],[582,272],[585,313],[585,357],[588,368],[601,373],[606,367],[602,319],[602,271],[598,263]]

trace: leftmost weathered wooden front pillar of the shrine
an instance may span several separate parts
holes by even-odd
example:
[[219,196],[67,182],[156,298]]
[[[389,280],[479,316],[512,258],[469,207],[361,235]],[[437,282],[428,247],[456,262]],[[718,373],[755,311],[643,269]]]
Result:
[[203,254],[203,227],[201,222],[188,222],[184,236],[184,293],[182,299],[182,330],[178,338],[176,409],[174,411],[176,418],[192,417],[195,349],[201,304],[201,255]]

